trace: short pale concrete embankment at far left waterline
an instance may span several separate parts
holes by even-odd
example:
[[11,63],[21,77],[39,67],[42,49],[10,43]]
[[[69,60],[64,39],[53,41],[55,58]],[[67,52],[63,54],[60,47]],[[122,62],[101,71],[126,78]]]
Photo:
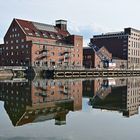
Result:
[[0,70],[0,79],[8,79],[14,76],[12,70]]

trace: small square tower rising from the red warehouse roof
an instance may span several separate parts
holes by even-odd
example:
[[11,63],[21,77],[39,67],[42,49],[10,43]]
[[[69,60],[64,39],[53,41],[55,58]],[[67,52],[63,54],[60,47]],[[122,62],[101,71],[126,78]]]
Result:
[[56,27],[60,30],[67,31],[67,21],[66,20],[56,20],[55,21]]

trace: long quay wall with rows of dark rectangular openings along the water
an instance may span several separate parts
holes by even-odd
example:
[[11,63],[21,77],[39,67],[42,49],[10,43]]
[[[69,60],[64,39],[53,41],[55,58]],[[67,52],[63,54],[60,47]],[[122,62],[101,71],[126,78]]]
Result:
[[140,76],[140,70],[46,70],[43,75],[48,78],[131,77]]

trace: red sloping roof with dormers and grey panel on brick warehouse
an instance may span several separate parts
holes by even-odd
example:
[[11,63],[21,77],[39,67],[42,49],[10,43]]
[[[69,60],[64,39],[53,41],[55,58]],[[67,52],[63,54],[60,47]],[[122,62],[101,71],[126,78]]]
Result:
[[59,40],[70,35],[68,31],[60,30],[58,27],[53,25],[22,19],[15,19],[15,21],[19,24],[27,36]]

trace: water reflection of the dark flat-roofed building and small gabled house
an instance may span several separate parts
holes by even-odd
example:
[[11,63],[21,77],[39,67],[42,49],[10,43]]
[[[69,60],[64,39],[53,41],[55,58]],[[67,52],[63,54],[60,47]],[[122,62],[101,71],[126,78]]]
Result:
[[83,93],[84,96],[89,95],[89,104],[93,108],[119,111],[123,116],[130,117],[138,114],[140,78],[84,81]]

